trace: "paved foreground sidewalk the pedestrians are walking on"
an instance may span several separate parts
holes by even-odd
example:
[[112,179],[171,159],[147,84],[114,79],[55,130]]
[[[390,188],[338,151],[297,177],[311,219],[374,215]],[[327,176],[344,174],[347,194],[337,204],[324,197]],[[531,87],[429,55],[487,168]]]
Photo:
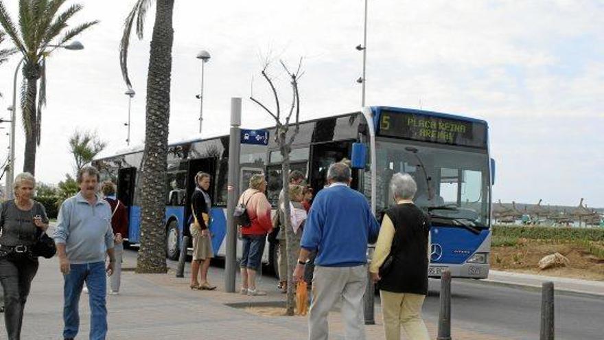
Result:
[[[185,278],[176,278],[171,269],[165,275],[135,274],[135,253],[127,252],[122,273],[120,295],[109,295],[108,339],[306,339],[305,317],[262,317],[225,304],[279,302],[284,295],[277,293],[277,280],[262,278],[265,297],[247,297],[224,293],[223,269],[211,267],[211,282],[218,291],[191,291],[188,269]],[[171,264],[174,264],[172,262]],[[32,282],[25,317],[23,339],[62,339],[62,277],[58,259],[40,260],[38,275]],[[237,280],[238,284],[238,280]],[[88,296],[80,301],[80,334],[87,339],[89,332]],[[384,339],[380,308],[376,306],[376,325],[367,326],[367,339]],[[0,337],[4,337],[0,323]],[[432,339],[436,337],[434,320],[426,320]],[[329,339],[344,339],[339,313],[329,317]],[[454,339],[506,339],[501,335],[483,335],[479,332],[453,328]],[[406,338],[402,338],[406,339]]]

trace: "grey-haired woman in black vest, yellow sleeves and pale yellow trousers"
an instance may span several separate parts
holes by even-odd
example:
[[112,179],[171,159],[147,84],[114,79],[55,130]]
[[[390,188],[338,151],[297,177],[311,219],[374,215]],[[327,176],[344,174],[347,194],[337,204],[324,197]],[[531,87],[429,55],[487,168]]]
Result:
[[390,188],[396,204],[386,210],[369,268],[380,287],[386,340],[399,340],[401,326],[409,339],[428,340],[421,305],[428,293],[430,220],[413,204],[417,184],[409,174],[394,174]]

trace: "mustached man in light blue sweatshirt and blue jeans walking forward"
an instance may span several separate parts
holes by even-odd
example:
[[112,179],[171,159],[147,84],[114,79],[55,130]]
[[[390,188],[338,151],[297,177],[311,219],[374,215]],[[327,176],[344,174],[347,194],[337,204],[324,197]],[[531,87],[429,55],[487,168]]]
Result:
[[[87,166],[78,171],[80,192],[62,203],[54,233],[60,270],[65,278],[63,337],[66,340],[78,335],[78,302],[84,282],[90,293],[90,339],[104,340],[107,335],[105,273],[113,273],[115,256],[111,207],[97,194],[99,180],[96,168]],[[109,263],[105,267],[106,256]]]

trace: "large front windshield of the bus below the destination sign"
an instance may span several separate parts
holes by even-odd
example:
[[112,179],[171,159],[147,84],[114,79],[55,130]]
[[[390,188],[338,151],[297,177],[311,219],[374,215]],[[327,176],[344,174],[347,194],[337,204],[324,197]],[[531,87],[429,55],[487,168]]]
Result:
[[[390,180],[396,172],[417,183],[414,202],[445,225],[489,225],[489,169],[486,150],[431,146],[409,141],[376,143],[377,211],[393,203]],[[364,182],[368,188],[369,179]],[[369,190],[368,190],[369,191]]]

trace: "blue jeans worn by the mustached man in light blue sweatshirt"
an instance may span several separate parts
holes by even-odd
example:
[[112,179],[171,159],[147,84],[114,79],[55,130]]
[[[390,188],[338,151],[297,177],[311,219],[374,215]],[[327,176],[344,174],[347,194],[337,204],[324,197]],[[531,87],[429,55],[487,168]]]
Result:
[[107,335],[107,306],[105,297],[107,293],[107,277],[104,262],[84,264],[71,264],[69,274],[63,275],[65,285],[63,295],[63,329],[64,338],[75,338],[80,328],[80,314],[78,304],[82,286],[86,282],[90,302],[90,340],[104,340]]

